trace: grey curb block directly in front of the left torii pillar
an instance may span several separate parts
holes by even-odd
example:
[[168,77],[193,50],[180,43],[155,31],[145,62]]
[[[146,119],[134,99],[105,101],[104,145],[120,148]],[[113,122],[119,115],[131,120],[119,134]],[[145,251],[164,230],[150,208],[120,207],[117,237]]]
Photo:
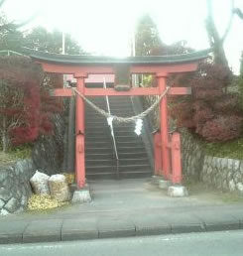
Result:
[[96,239],[99,236],[96,221],[91,219],[65,219],[61,227],[61,240]]

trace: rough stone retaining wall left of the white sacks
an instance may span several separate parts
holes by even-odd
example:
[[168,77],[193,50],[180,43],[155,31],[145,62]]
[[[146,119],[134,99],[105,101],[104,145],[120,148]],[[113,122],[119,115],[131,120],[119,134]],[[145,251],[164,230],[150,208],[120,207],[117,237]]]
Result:
[[30,179],[35,173],[31,159],[0,167],[0,215],[20,212],[32,194]]

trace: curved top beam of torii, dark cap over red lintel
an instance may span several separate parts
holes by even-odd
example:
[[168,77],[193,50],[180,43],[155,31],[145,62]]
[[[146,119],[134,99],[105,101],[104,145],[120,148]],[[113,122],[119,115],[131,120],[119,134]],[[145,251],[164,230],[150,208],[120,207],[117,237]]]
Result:
[[115,73],[116,64],[127,64],[130,73],[168,74],[196,70],[199,62],[207,59],[210,49],[174,56],[146,56],[113,58],[100,56],[58,55],[24,48],[22,53],[42,64],[44,71],[70,73]]

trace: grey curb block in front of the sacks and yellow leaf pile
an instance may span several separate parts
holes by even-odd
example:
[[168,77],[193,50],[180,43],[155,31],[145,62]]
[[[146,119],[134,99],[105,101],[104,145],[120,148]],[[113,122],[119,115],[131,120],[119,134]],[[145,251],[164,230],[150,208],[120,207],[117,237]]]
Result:
[[61,241],[61,219],[42,219],[32,221],[23,233],[23,242]]

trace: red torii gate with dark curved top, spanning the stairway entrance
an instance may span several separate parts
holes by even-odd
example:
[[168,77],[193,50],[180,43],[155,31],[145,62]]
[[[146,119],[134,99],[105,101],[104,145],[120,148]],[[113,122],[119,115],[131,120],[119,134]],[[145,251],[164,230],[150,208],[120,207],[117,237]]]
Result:
[[[210,50],[203,50],[191,54],[164,57],[129,57],[125,59],[95,57],[95,56],[67,56],[49,54],[30,49],[25,54],[34,61],[42,64],[44,71],[73,74],[77,80],[76,89],[84,96],[141,96],[161,95],[167,88],[166,79],[170,73],[194,71],[199,62],[208,58]],[[114,88],[86,88],[85,77],[88,74],[115,74],[117,64],[129,66],[130,74],[151,73],[158,79],[157,87],[131,87],[127,91],[117,91]],[[188,87],[172,87],[169,95],[190,94]],[[55,89],[53,96],[70,97],[71,88]],[[174,184],[182,183],[181,139],[179,133],[169,136],[167,95],[160,102],[161,131],[154,135],[155,175],[161,175]],[[172,161],[170,157],[172,151]],[[171,174],[172,168],[172,174]],[[75,142],[75,174],[77,188],[85,186],[84,160],[84,101],[76,98],[76,142]]]

